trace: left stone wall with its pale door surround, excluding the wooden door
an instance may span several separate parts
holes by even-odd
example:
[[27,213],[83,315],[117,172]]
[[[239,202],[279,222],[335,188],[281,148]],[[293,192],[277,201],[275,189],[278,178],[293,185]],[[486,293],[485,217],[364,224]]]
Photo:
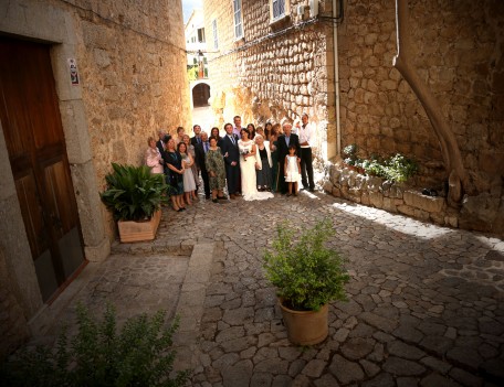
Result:
[[[0,33],[50,44],[85,256],[104,259],[116,227],[98,193],[111,163],[140,164],[149,136],[189,125],[181,2],[4,1]],[[69,58],[77,62],[78,86],[71,85]],[[35,329],[45,309],[1,126],[0,155],[3,354],[24,340],[25,321]]]

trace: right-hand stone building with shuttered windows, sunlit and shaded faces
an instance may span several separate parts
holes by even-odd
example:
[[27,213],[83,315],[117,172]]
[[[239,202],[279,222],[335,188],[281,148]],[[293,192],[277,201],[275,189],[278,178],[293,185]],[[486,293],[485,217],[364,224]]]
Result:
[[393,65],[393,1],[206,0],[214,34],[208,41],[218,42],[209,67],[219,123],[234,115],[245,123],[292,120],[306,111],[317,125],[321,160],[338,160],[353,143],[363,158],[400,152],[418,161],[413,186],[451,187],[455,200],[443,211],[455,221],[437,223],[503,234],[503,4],[398,3],[409,11],[402,23],[417,85]]

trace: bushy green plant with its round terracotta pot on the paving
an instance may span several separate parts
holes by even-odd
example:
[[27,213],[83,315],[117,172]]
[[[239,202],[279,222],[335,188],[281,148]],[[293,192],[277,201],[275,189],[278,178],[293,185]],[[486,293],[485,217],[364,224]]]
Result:
[[287,335],[294,344],[324,341],[328,302],[346,300],[349,275],[339,252],[326,246],[332,235],[333,223],[327,218],[301,234],[281,224],[264,254],[265,277],[277,289]]

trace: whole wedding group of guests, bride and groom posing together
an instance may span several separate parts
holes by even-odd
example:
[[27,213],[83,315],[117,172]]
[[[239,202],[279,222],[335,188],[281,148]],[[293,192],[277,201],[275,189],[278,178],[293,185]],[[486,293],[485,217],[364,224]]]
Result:
[[185,211],[198,200],[200,175],[204,196],[213,203],[238,196],[267,200],[275,192],[297,196],[300,181],[304,190],[315,190],[315,133],[306,114],[294,122],[266,122],[264,128],[242,127],[240,116],[233,123],[224,125],[222,136],[217,127],[207,133],[195,125],[193,137],[179,127],[176,136],[160,130],[158,141],[148,139],[145,163],[151,173],[165,174],[175,211]]

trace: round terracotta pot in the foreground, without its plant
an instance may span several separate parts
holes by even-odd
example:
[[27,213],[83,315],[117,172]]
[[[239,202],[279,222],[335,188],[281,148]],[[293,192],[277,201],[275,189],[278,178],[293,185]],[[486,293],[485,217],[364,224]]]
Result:
[[318,312],[315,312],[294,311],[282,305],[281,301],[279,303],[291,343],[296,345],[314,345],[327,337],[327,304],[323,305]]

